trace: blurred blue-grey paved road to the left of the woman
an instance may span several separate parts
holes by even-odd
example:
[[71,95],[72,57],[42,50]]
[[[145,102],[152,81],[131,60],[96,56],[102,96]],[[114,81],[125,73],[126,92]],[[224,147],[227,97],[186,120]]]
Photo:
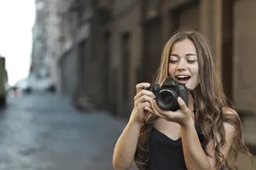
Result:
[[[67,98],[49,94],[8,103],[0,114],[0,170],[113,170],[113,146],[125,122],[79,113]],[[240,162],[247,170],[248,159]]]

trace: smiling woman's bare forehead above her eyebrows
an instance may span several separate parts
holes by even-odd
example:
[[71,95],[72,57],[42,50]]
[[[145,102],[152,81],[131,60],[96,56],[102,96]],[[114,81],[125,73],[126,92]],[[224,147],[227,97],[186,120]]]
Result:
[[175,42],[172,46],[171,54],[177,54],[177,55],[196,54],[195,44],[188,38],[182,41]]

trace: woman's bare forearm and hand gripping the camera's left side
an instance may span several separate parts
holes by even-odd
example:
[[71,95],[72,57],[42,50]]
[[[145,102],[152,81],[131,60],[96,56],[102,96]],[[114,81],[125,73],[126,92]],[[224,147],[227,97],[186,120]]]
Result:
[[127,170],[134,161],[140,129],[143,118],[147,113],[145,108],[150,107],[149,100],[155,97],[151,91],[144,89],[149,86],[150,84],[145,82],[136,86],[137,95],[134,97],[134,108],[131,112],[130,120],[113,150],[113,167],[116,170]]

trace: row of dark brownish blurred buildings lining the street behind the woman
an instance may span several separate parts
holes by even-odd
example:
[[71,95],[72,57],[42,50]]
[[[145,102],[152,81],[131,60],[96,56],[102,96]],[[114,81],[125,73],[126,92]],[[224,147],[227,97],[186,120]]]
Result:
[[34,53],[40,48],[52,56],[51,75],[61,94],[74,104],[90,103],[129,117],[135,86],[152,82],[166,41],[178,29],[194,29],[210,42],[218,76],[236,109],[256,113],[254,0],[56,0],[55,4],[49,17],[54,21],[47,26],[54,37],[48,39],[47,48],[38,43]]

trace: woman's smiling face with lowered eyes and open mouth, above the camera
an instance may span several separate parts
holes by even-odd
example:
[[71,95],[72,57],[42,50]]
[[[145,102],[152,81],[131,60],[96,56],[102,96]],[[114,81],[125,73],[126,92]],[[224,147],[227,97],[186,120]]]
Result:
[[194,43],[187,39],[175,42],[170,54],[169,74],[176,77],[187,88],[195,89],[199,84],[199,66]]

